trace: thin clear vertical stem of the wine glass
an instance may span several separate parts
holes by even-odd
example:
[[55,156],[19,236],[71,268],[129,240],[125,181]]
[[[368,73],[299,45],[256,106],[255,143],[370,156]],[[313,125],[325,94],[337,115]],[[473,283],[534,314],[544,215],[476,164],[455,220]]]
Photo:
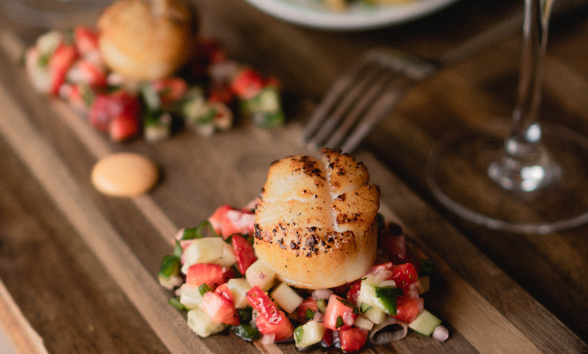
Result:
[[507,153],[513,158],[537,153],[541,129],[537,113],[541,102],[543,59],[553,0],[525,0],[523,50],[519,90],[513,111],[513,131],[506,139]]

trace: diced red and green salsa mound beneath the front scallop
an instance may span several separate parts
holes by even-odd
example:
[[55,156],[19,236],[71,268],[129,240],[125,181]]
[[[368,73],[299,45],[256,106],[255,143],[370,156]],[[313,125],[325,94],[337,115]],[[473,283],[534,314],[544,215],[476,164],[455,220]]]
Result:
[[188,312],[188,326],[202,337],[229,329],[263,344],[345,352],[402,339],[409,328],[445,340],[447,329],[420,297],[429,288],[432,262],[407,247],[399,225],[378,218],[377,264],[335,289],[296,289],[276,279],[253,250],[255,214],[228,205],[178,232],[159,281],[175,289],[169,303]]

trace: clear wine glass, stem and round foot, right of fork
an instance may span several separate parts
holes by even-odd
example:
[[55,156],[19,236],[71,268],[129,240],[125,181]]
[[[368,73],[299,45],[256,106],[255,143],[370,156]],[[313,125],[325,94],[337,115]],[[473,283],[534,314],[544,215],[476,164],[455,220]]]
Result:
[[512,133],[506,139],[451,133],[427,160],[433,195],[462,218],[492,229],[544,234],[588,221],[588,140],[537,121],[552,5],[524,0]]

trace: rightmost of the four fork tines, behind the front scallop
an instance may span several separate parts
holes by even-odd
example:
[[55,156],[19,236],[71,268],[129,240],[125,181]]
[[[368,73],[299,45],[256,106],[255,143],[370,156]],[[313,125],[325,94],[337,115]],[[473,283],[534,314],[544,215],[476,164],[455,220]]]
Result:
[[393,80],[389,88],[371,106],[362,121],[348,136],[341,146],[341,151],[352,152],[358,144],[372,130],[373,126],[382,121],[392,111],[404,92],[413,83],[413,79],[399,75]]

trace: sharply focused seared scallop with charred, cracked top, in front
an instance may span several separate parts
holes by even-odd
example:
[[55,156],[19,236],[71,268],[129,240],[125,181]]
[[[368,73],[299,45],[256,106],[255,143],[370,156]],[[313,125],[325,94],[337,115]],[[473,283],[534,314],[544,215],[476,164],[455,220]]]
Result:
[[272,163],[255,212],[255,252],[299,288],[343,285],[376,258],[380,189],[362,162],[338,150]]

